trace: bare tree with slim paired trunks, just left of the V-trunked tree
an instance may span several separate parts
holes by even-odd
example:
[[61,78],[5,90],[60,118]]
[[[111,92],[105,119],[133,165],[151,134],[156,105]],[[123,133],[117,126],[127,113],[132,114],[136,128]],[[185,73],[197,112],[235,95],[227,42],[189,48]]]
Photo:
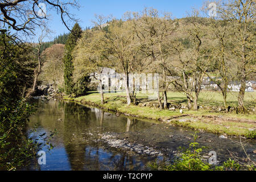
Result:
[[[164,108],[167,108],[167,59],[170,58],[168,41],[176,31],[177,23],[171,19],[170,13],[163,14],[155,9],[144,9],[142,14],[133,14],[133,28],[139,38],[140,45],[138,49],[142,51],[148,59],[149,72],[158,72],[162,75]],[[158,92],[158,104],[163,109],[160,94]]]

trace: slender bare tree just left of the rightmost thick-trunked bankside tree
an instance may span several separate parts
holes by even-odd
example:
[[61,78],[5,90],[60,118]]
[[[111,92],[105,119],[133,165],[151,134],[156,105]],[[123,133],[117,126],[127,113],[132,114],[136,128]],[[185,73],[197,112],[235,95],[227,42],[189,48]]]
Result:
[[[208,14],[209,3],[206,2],[203,10],[205,14]],[[232,26],[227,20],[221,20],[220,17],[210,16],[209,18],[209,39],[212,40],[212,44],[209,44],[211,47],[209,69],[205,71],[205,75],[208,76],[210,81],[214,82],[218,86],[218,89],[221,90],[224,107],[228,112],[228,104],[226,98],[228,96],[228,85],[229,82],[233,79],[232,73],[234,72],[234,67],[232,64],[234,62],[234,56],[232,56],[232,32],[230,28]],[[216,74],[216,77],[210,76],[210,72]]]

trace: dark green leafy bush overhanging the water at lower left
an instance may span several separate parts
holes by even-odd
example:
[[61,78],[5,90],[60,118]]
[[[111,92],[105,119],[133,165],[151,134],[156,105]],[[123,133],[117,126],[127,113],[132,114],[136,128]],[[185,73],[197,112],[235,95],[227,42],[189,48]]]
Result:
[[0,107],[0,169],[15,170],[36,155],[35,144],[23,135],[34,107],[24,101],[8,103]]

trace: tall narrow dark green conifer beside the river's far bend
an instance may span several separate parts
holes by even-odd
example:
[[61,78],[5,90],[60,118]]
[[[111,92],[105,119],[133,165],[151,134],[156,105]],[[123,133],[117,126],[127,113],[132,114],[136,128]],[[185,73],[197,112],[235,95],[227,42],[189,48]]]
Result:
[[79,26],[78,23],[75,24],[75,26],[72,28],[71,34],[68,36],[67,43],[65,44],[65,53],[64,53],[64,88],[66,94],[72,94],[73,93],[73,57],[72,57],[72,51],[76,46],[77,40],[81,38],[82,29]]

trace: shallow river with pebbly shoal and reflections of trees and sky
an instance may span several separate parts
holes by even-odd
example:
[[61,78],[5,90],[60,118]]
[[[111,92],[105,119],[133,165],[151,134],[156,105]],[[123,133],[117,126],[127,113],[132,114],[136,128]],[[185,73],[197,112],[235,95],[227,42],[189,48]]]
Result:
[[[69,101],[35,101],[38,110],[30,117],[28,137],[39,138],[57,131],[54,148],[46,153],[46,165],[34,162],[26,170],[147,170],[147,163],[171,160],[179,147],[193,142],[195,131],[158,121],[117,116]],[[216,151],[217,161],[243,156],[238,138],[221,139],[212,133],[197,133],[197,142]],[[246,140],[246,151],[255,160],[255,140]],[[44,147],[43,150],[47,151]],[[228,151],[229,150],[229,151]],[[155,155],[154,155],[155,154]]]

